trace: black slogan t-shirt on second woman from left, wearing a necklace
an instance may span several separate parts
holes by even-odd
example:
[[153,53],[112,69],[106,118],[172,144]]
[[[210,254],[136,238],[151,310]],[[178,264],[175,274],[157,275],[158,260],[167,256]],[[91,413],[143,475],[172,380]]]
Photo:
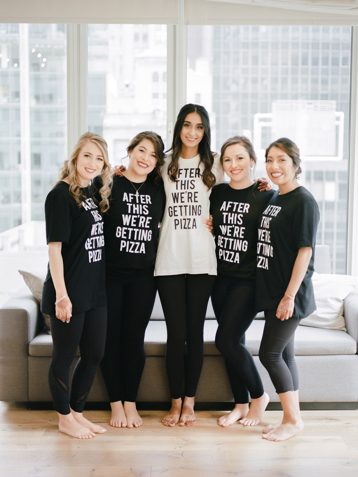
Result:
[[[154,266],[165,208],[162,179],[156,184],[147,176],[133,184],[114,176],[109,209],[103,214],[107,272],[131,276]],[[95,187],[100,186],[98,178]]]

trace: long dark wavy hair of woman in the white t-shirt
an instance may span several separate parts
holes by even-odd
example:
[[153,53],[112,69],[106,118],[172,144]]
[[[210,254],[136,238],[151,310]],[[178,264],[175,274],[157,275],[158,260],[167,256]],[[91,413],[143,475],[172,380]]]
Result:
[[[199,104],[185,104],[178,114],[177,121],[174,126],[173,132],[173,144],[168,151],[172,151],[171,161],[168,166],[168,176],[172,182],[175,182],[179,172],[179,156],[181,152],[182,142],[180,139],[180,132],[185,122],[185,118],[190,113],[198,113],[201,117],[202,125],[204,128],[204,135],[199,143],[198,152],[200,155],[200,162],[204,165],[204,170],[201,175],[201,179],[208,189],[215,186],[215,176],[211,172],[212,165],[214,164],[214,156],[210,149],[211,132],[210,132],[210,120],[209,114],[204,106]],[[167,151],[167,152],[168,152]],[[200,164],[200,163],[199,163]]]

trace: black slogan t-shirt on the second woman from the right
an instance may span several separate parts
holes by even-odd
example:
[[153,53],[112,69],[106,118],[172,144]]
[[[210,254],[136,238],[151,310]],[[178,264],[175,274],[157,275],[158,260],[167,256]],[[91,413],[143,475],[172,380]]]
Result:
[[257,187],[255,183],[237,190],[224,183],[211,191],[218,275],[255,278],[257,220],[274,194],[260,192]]

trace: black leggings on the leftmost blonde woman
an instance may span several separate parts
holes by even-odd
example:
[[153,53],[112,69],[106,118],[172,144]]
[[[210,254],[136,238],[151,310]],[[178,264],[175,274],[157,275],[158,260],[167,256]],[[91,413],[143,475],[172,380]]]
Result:
[[[105,351],[107,307],[94,308],[72,315],[69,323],[50,316],[52,360],[49,384],[53,408],[60,414],[70,414],[70,406],[82,413],[87,395],[95,379],[97,366]],[[70,385],[70,367],[80,346],[80,359],[74,368]]]

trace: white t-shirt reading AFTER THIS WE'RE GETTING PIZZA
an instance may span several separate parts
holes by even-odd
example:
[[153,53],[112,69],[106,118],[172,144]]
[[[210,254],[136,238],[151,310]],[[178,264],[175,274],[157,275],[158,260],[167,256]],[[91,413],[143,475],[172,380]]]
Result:
[[[162,167],[167,197],[160,227],[159,245],[154,275],[208,273],[216,275],[215,241],[203,224],[209,218],[211,189],[201,179],[204,165],[200,156],[179,157],[179,174],[175,182],[168,176],[171,156]],[[220,156],[214,156],[211,172],[216,184],[223,180]]]

